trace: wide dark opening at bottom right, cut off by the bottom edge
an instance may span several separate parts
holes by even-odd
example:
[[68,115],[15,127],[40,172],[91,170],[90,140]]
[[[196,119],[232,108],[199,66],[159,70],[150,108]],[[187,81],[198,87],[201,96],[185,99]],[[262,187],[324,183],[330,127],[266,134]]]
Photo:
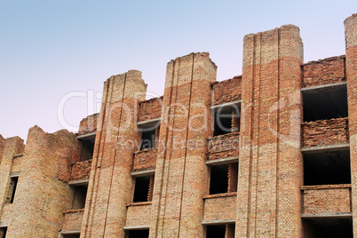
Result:
[[305,238],[353,237],[352,218],[303,218]]

